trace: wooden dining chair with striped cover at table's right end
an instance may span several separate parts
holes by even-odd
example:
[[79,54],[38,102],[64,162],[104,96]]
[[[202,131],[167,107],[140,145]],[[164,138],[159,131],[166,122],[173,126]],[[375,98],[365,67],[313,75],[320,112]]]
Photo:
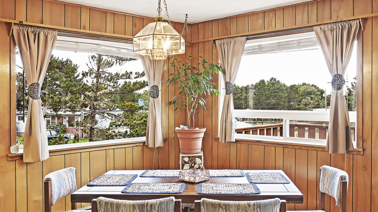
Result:
[[340,212],[347,212],[348,182],[347,172],[335,167],[320,167],[320,210],[295,212],[325,212],[325,194],[335,198]]

